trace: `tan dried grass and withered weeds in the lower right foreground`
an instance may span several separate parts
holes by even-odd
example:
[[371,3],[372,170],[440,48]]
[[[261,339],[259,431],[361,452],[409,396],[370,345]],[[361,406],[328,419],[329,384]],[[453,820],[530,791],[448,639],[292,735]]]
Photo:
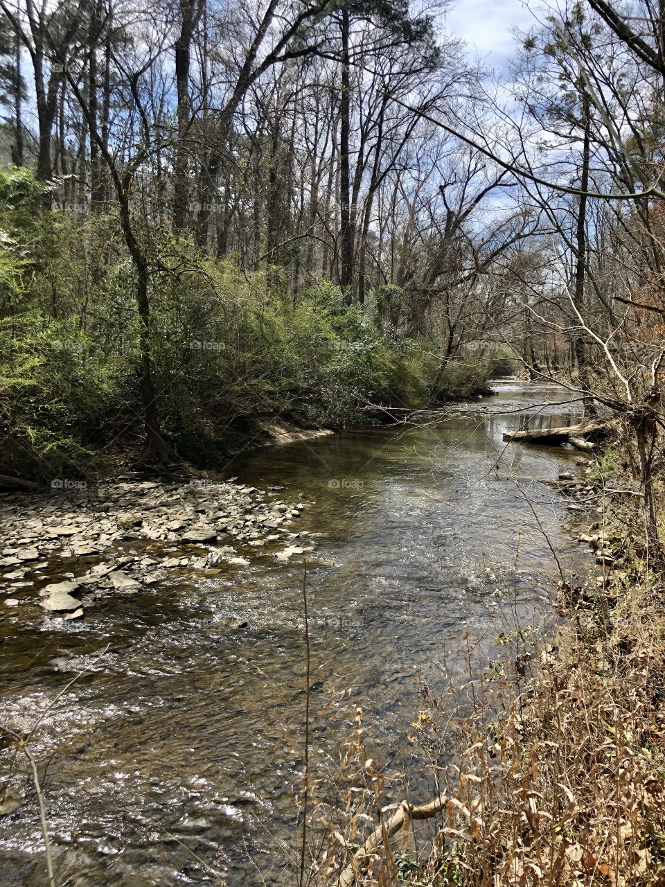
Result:
[[310,883],[665,884],[665,597],[638,552],[624,557],[612,581],[561,589],[558,649],[514,657],[512,679],[458,718],[456,751],[450,721],[437,736],[441,706],[421,713],[417,738],[448,761],[431,767],[425,848],[419,811],[385,805],[358,724]]

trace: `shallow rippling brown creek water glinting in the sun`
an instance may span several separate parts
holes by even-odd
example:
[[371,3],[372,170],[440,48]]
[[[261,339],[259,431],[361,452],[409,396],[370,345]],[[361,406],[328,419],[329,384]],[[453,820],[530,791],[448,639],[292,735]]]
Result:
[[[466,418],[266,448],[225,468],[316,500],[295,528],[320,534],[307,553],[315,768],[337,757],[360,705],[391,760],[423,682],[461,679],[480,638],[487,665],[508,618],[552,617],[542,530],[566,569],[583,563],[574,516],[543,483],[578,470],[579,454],[502,439],[526,416],[560,425],[575,410],[562,389],[497,392]],[[284,878],[306,698],[302,558],[243,553],[246,569],[105,600],[82,624],[3,632],[0,722],[27,730],[62,692],[31,742],[59,883],[220,883],[208,866],[231,887]],[[6,767],[15,752],[2,756]],[[34,797],[0,818],[0,883],[46,883]]]

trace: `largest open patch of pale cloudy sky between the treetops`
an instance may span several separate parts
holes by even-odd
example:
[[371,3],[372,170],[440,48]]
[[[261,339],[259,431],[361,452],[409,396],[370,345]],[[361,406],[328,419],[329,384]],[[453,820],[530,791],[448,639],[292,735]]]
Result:
[[527,29],[533,22],[524,0],[453,0],[445,28],[465,40],[473,58],[505,67],[514,51],[513,28]]

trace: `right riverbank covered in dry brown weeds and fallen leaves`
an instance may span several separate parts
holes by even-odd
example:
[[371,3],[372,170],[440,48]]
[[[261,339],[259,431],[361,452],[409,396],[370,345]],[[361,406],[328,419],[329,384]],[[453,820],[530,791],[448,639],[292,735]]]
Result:
[[[598,518],[580,537],[597,575],[559,581],[552,643],[525,634],[505,681],[484,684],[458,723],[440,796],[413,812],[438,820],[429,860],[396,839],[384,852],[383,836],[412,825],[398,807],[397,828],[385,822],[341,883],[378,883],[396,860],[407,883],[428,887],[663,883],[665,574],[627,468],[611,447],[582,483],[562,484],[571,506]],[[434,709],[423,715],[414,734],[442,742],[427,729]]]

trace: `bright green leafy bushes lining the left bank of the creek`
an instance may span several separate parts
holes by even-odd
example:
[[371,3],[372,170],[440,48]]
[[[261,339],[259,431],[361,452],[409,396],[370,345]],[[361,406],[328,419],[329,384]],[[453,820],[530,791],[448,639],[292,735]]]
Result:
[[[0,177],[0,472],[90,475],[142,443],[136,279],[113,214],[40,215],[41,194],[22,170]],[[159,232],[153,243],[153,382],[184,459],[215,464],[278,416],[343,428],[426,405],[436,358],[339,287],[294,303],[274,268],[246,274]],[[451,366],[443,383],[464,394],[470,378]]]

